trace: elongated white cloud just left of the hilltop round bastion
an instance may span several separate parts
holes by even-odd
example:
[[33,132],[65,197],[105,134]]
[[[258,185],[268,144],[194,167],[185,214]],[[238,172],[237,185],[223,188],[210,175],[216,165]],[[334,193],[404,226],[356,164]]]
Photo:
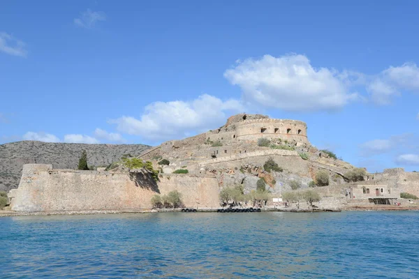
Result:
[[109,123],[116,124],[122,133],[140,135],[148,140],[171,140],[185,137],[191,131],[221,126],[227,115],[243,111],[244,107],[238,100],[223,101],[204,94],[189,102],[152,103],[145,107],[140,119],[122,116]]

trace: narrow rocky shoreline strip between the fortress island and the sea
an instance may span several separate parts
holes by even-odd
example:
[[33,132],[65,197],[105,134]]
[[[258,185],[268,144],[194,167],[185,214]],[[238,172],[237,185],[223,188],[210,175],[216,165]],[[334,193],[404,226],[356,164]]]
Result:
[[332,212],[338,213],[342,211],[419,211],[419,206],[348,206],[344,208],[326,208],[326,209],[297,209],[297,208],[262,208],[260,212],[219,212],[222,208],[216,209],[199,209],[195,212],[184,212],[182,209],[99,209],[99,210],[82,210],[82,211],[11,211],[1,210],[1,217],[15,216],[61,216],[61,215],[94,215],[94,214],[126,214],[126,213],[263,213],[263,212],[289,212],[289,213],[317,213]]

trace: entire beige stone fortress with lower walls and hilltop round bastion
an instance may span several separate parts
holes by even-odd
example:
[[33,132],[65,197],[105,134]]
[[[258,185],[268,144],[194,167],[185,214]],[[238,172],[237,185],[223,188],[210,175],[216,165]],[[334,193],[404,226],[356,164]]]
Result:
[[[266,138],[273,146],[259,146]],[[281,148],[275,148],[281,146]],[[304,154],[304,156],[302,156]],[[242,184],[249,193],[264,179],[273,197],[291,190],[291,181],[308,188],[317,172],[326,172],[329,186],[314,190],[323,196],[321,206],[346,206],[368,202],[376,193],[397,198],[400,192],[419,195],[419,174],[387,169],[367,174],[365,181],[348,183],[346,172],[354,167],[311,146],[307,125],[302,121],[270,119],[260,114],[231,116],[224,126],[184,140],[171,140],[148,149],[140,156],[160,169],[153,181],[141,169],[79,171],[52,169],[51,165],[24,165],[19,188],[11,190],[15,211],[69,211],[101,209],[149,209],[153,195],[171,190],[182,193],[186,207],[219,207],[223,187]],[[266,172],[272,158],[283,172]],[[169,165],[159,165],[161,159]],[[187,169],[188,174],[173,173]],[[368,193],[366,189],[368,188]],[[369,192],[371,188],[371,192]],[[360,191],[364,191],[360,195]],[[364,202],[365,202],[364,200]]]

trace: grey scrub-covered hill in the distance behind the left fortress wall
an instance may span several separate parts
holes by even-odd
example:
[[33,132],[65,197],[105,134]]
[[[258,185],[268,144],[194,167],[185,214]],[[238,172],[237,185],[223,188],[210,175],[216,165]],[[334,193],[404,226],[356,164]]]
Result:
[[17,188],[22,166],[30,163],[52,164],[54,169],[75,169],[82,150],[89,165],[105,166],[124,154],[138,156],[150,146],[144,144],[66,144],[47,142],[12,142],[0,144],[0,190]]

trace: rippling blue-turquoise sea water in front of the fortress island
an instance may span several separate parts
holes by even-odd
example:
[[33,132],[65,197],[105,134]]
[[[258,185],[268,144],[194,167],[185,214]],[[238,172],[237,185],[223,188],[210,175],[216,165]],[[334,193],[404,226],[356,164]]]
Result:
[[0,278],[419,278],[419,212],[0,218]]

